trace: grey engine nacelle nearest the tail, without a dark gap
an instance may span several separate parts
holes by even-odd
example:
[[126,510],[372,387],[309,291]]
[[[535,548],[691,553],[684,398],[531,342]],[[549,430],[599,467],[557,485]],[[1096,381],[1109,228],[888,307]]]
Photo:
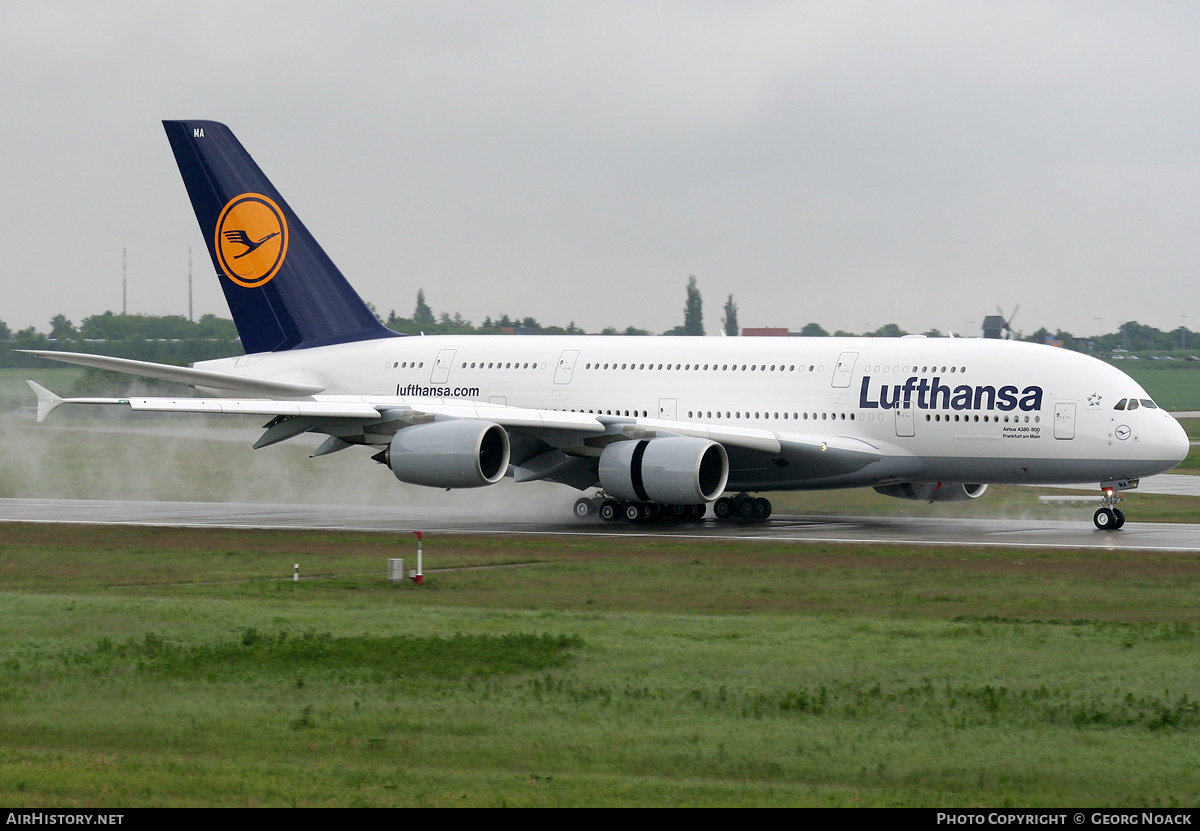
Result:
[[413,485],[493,485],[509,470],[509,434],[491,422],[416,424],[396,431],[382,461]]

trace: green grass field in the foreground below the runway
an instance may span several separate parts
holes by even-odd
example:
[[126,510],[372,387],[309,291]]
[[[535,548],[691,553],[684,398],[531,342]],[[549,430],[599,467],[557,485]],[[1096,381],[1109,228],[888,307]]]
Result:
[[410,545],[0,527],[0,801],[1200,799],[1200,555]]

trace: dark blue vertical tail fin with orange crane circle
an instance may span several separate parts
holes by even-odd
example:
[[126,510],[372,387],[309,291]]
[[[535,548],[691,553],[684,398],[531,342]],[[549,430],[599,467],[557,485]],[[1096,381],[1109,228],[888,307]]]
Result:
[[394,337],[227,126],[163,121],[247,353]]

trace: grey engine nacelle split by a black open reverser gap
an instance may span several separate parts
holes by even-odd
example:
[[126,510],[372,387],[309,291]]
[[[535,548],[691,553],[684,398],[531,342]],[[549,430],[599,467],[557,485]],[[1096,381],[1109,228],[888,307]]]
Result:
[[617,442],[600,454],[600,486],[623,500],[706,504],[721,495],[728,478],[725,448],[708,438]]

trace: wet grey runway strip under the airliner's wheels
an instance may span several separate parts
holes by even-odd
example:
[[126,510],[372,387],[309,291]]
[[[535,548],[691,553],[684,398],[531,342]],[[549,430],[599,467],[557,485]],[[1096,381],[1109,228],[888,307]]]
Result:
[[0,500],[0,522],[1200,551],[1200,524],[1130,520],[1121,531],[1097,531],[1091,522],[1092,512],[1085,508],[1080,509],[1078,520],[776,515],[767,522],[746,525],[716,522],[712,519],[703,522],[644,525],[570,518],[562,521],[534,521],[463,518],[457,513],[438,508]]

